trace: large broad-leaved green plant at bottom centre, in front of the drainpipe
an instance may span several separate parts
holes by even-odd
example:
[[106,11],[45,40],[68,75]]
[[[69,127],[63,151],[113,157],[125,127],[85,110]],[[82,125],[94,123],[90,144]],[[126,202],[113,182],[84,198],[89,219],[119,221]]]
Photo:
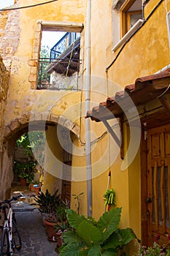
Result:
[[137,239],[131,228],[118,228],[121,208],[107,211],[94,224],[72,209],[66,210],[66,214],[72,230],[63,233],[65,244],[60,247],[61,256],[114,256]]

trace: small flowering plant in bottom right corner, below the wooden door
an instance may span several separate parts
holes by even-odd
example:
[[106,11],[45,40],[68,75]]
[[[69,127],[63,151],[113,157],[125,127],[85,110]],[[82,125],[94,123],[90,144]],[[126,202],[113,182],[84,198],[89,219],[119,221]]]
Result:
[[164,244],[163,246],[160,246],[158,244],[158,241],[160,240],[161,235],[158,234],[158,236],[155,238],[155,241],[153,243],[153,246],[147,247],[147,246],[141,246],[139,245],[138,252],[135,253],[135,256],[143,256],[143,255],[150,255],[150,256],[169,256],[170,255],[170,235],[167,235],[168,238],[168,244]]

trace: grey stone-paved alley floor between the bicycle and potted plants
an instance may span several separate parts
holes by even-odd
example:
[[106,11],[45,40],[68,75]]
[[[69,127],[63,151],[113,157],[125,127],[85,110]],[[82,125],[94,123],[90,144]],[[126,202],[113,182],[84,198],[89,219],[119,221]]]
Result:
[[[24,194],[26,195],[26,193]],[[27,196],[27,195],[26,195]],[[55,252],[56,242],[48,241],[41,213],[25,201],[13,204],[22,239],[22,249],[15,249],[14,256],[58,256]],[[31,211],[31,208],[34,211]]]

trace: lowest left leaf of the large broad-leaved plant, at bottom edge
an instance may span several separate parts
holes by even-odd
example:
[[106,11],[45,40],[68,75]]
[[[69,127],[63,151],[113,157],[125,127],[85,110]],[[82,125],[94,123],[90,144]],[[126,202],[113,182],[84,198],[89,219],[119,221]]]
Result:
[[80,256],[80,244],[79,243],[71,243],[67,244],[60,252],[61,256]]

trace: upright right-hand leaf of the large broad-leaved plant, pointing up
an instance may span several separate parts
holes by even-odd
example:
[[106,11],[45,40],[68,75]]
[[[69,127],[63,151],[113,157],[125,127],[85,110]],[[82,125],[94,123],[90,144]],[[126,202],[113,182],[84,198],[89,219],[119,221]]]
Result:
[[104,213],[97,222],[97,227],[103,233],[103,241],[117,230],[120,223],[121,208],[113,208],[111,211]]

